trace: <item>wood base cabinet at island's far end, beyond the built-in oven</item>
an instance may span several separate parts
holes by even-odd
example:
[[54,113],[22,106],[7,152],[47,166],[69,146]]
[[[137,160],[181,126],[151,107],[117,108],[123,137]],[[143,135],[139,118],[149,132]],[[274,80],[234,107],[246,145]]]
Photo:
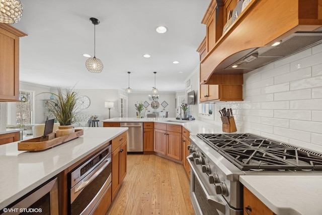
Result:
[[112,139],[112,201],[127,173],[127,134]]

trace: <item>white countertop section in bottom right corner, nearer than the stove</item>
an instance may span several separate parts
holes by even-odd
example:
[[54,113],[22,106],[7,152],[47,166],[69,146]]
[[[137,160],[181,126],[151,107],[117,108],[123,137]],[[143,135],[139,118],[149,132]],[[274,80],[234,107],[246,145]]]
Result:
[[322,214],[321,175],[243,175],[239,181],[278,215]]

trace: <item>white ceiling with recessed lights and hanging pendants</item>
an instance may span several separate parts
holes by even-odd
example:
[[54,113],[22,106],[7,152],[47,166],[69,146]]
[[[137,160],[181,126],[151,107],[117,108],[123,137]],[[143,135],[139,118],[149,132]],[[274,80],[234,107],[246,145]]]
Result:
[[[199,64],[196,51],[205,37],[201,20],[210,0],[21,0],[23,17],[13,26],[20,39],[20,81],[77,89],[126,89],[133,93],[185,89],[185,80]],[[90,73],[84,53],[104,69]],[[155,28],[164,25],[165,34]],[[142,57],[149,53],[150,58]],[[173,61],[180,61],[174,64]],[[179,72],[182,72],[180,74]]]

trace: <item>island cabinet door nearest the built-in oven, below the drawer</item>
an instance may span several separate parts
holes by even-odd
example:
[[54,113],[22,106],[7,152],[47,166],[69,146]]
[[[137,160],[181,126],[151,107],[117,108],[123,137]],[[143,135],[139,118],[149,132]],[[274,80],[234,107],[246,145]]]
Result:
[[120,188],[120,148],[112,153],[112,201]]

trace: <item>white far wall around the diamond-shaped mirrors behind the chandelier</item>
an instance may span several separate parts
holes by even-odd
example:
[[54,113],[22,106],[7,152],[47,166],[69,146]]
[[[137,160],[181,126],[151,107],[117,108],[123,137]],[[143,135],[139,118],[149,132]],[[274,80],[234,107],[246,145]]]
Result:
[[[136,117],[136,109],[135,104],[137,102],[145,102],[147,101],[149,104],[151,104],[151,101],[149,101],[149,94],[148,93],[131,93],[128,95],[128,117]],[[166,111],[169,111],[168,117],[176,117],[176,94],[175,93],[159,93],[159,99],[158,102],[160,103],[160,106],[156,111],[163,111],[163,107],[161,103],[163,101],[166,101],[168,103],[168,106],[166,107]],[[150,112],[153,112],[153,109],[151,108],[151,105],[147,107],[147,110]],[[145,113],[145,109],[143,110],[143,116]]]

